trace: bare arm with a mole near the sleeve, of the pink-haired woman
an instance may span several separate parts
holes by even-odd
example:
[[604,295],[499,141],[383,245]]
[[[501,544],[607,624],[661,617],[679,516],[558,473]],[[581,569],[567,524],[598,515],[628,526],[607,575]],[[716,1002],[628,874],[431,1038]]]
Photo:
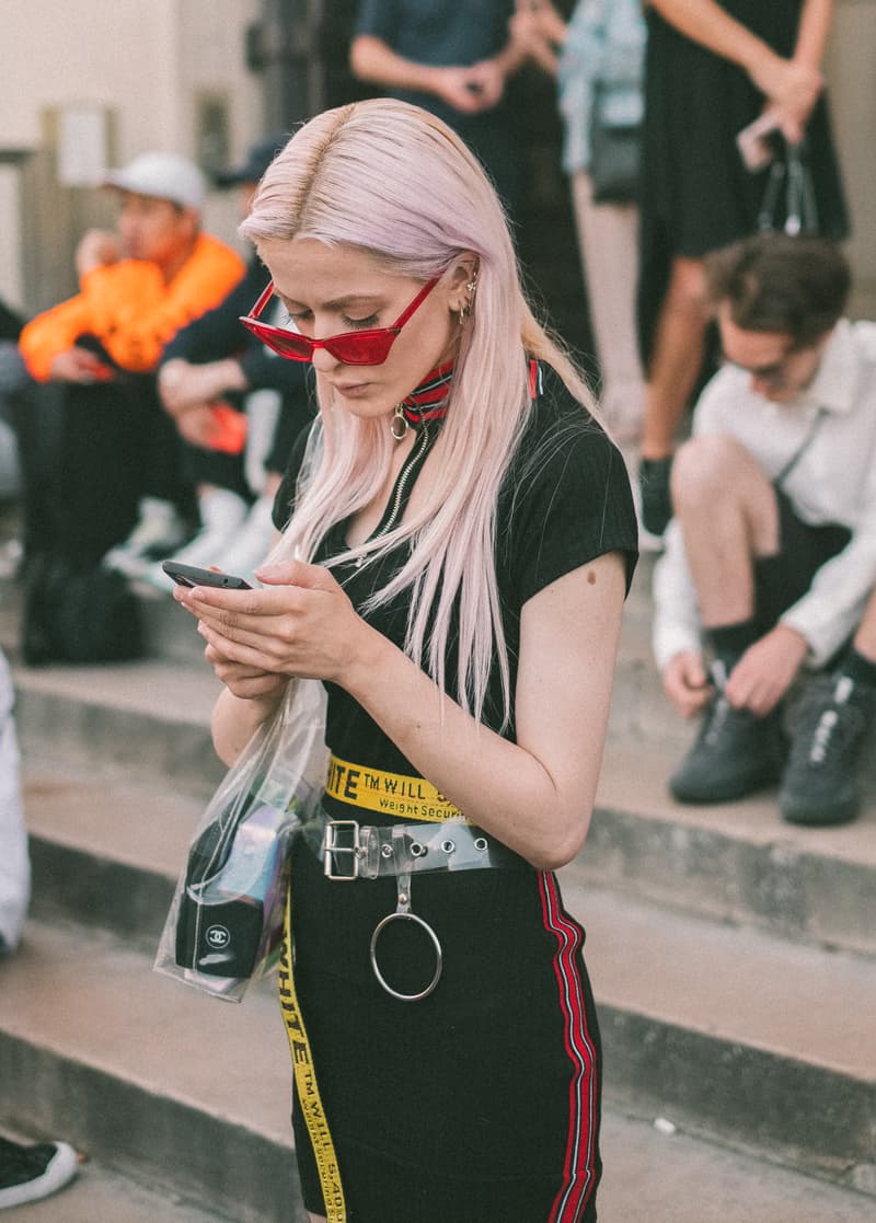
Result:
[[[175,597],[201,619],[224,659],[253,673],[313,675],[345,687],[433,785],[533,866],[553,868],[575,856],[590,822],[611,703],[624,599],[618,554],[566,574],[524,607],[518,742],[480,726],[443,696],[356,615],[324,569],[288,563],[259,576],[272,588],[180,589]],[[234,714],[240,728],[231,698],[220,703],[221,718]]]

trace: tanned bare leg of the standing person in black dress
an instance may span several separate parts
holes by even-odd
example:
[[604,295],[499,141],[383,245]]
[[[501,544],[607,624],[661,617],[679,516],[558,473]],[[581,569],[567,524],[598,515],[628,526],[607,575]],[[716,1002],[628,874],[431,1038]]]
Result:
[[701,259],[673,259],[645,388],[641,455],[672,454],[678,423],[702,366],[707,313]]

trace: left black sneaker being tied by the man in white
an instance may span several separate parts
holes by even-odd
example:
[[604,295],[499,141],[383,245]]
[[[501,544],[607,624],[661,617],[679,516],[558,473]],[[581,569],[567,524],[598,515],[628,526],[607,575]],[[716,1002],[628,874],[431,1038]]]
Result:
[[669,778],[669,791],[678,802],[732,802],[778,781],[783,758],[778,711],[756,718],[734,709],[718,691],[694,745]]

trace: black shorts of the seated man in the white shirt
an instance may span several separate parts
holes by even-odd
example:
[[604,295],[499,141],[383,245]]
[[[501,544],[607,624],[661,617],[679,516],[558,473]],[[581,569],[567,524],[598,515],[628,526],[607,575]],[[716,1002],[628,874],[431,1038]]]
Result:
[[755,621],[759,635],[768,632],[783,612],[803,598],[821,566],[842,552],[852,538],[837,523],[814,527],[798,517],[788,497],[776,489],[779,550],[755,561]]

